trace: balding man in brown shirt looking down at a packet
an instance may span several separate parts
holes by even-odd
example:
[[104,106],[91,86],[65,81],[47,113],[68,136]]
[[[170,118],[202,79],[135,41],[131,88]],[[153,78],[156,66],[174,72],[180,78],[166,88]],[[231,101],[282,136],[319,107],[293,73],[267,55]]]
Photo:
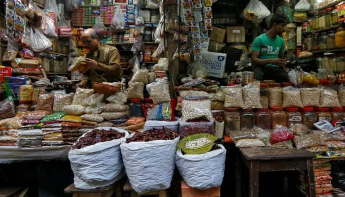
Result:
[[101,43],[94,29],[85,30],[81,34],[81,40],[90,49],[85,55],[85,66],[89,69],[83,73],[83,79],[77,87],[85,88],[91,85],[91,82],[120,81],[123,70],[120,67],[119,51],[113,46]]

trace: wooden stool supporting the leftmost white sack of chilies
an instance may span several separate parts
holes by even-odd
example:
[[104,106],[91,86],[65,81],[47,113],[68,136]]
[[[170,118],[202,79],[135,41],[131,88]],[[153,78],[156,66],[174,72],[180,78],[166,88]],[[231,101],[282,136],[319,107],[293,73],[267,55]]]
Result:
[[74,183],[72,183],[65,189],[65,193],[73,193],[73,197],[111,197],[116,193],[116,197],[122,197],[121,188],[116,183],[93,190],[80,190],[75,188]]

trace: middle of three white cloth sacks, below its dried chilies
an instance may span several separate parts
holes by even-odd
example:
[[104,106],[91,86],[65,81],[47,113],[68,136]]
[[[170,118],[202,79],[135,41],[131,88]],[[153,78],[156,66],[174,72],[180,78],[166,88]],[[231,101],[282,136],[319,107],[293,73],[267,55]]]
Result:
[[134,191],[170,188],[175,168],[174,157],[180,137],[173,140],[131,142],[120,145],[123,164]]

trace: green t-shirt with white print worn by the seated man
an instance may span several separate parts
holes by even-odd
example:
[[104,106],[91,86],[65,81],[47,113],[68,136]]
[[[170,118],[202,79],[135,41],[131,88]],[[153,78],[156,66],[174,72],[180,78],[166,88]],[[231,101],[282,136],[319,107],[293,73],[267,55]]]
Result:
[[[285,53],[285,41],[278,35],[276,39],[271,39],[263,33],[255,38],[252,51],[260,52],[259,59],[276,59],[279,53]],[[276,67],[273,64],[267,66]]]

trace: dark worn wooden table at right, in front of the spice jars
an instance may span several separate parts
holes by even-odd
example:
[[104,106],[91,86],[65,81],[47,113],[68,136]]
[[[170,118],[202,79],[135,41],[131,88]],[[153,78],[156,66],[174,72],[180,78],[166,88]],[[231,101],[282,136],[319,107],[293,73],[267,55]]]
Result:
[[[259,197],[259,172],[305,170],[306,193],[315,197],[312,159],[315,154],[305,149],[273,147],[240,148],[236,158],[236,197],[242,197],[242,161],[249,169],[249,197]],[[287,196],[287,177],[284,196]]]

